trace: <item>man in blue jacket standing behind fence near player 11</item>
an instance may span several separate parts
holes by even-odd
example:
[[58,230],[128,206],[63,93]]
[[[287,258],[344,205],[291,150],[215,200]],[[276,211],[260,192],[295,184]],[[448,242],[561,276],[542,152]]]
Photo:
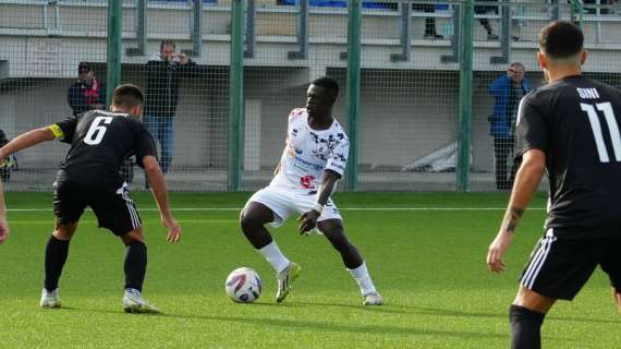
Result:
[[489,85],[489,94],[494,97],[494,112],[489,134],[494,137],[494,155],[496,158],[496,188],[511,189],[515,176],[515,164],[508,168],[508,160],[513,154],[515,143],[515,116],[520,100],[531,92],[531,83],[524,77],[524,64],[514,62],[507,69],[507,74],[498,77]]

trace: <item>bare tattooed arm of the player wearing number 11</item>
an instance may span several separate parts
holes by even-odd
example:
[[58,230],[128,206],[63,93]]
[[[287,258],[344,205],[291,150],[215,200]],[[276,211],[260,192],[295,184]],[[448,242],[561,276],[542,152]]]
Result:
[[496,239],[489,245],[487,252],[487,267],[492,273],[504,270],[502,257],[511,245],[518,224],[533,198],[541,177],[546,170],[546,155],[539,149],[529,149],[524,153],[522,165],[515,174],[515,184],[511,192],[511,198],[507,213],[500,225]]

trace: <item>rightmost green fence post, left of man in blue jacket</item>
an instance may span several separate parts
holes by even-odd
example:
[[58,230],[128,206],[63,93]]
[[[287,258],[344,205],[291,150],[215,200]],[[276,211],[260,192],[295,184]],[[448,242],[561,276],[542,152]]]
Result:
[[458,143],[458,191],[467,192],[470,191],[470,152],[473,96],[473,0],[464,1],[462,13],[462,39],[460,40],[462,47],[460,53],[460,139]]

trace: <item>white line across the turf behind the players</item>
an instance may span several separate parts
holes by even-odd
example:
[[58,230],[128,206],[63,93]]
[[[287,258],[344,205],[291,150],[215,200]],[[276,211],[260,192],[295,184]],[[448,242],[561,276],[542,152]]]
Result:
[[[175,212],[217,212],[241,210],[242,207],[178,207]],[[506,210],[507,207],[339,207],[340,210]],[[544,210],[544,207],[531,207],[528,210]],[[8,212],[52,212],[47,208],[8,208]],[[155,207],[138,208],[138,212],[157,212]]]

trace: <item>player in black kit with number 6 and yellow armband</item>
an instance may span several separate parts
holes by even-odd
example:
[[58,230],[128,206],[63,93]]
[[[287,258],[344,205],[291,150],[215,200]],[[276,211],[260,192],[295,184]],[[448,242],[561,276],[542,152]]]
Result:
[[9,156],[56,139],[71,144],[54,182],[53,210],[57,222],[46,248],[42,308],[60,306],[58,281],[69,254],[69,243],[80,217],[89,206],[97,216],[99,227],[110,229],[126,246],[123,309],[133,313],[158,312],[141,294],[147,248],[141,218],[130,198],[126,183],[119,174],[121,164],[135,155],[151,183],[161,221],[168,229],[167,240],[178,242],[181,228],[169,209],[167,185],[157,161],[155,142],[138,119],[143,105],[144,95],[138,87],[121,85],[114,91],[110,112],[86,111],[26,132],[0,148],[0,155]]

